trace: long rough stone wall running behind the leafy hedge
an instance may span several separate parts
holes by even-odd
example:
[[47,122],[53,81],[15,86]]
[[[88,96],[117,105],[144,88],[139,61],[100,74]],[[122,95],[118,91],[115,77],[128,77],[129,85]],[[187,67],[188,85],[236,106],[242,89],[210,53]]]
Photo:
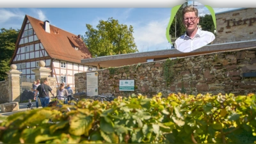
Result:
[[[255,93],[256,77],[243,77],[245,72],[256,72],[255,51],[256,47],[177,58],[168,67],[164,66],[167,60],[162,60],[97,70],[99,93],[141,93],[148,97],[159,92],[165,96],[171,92]],[[172,78],[164,77],[166,74]],[[124,79],[134,79],[134,92],[119,91],[119,80]],[[75,74],[75,84],[77,92],[86,92],[86,72]]]

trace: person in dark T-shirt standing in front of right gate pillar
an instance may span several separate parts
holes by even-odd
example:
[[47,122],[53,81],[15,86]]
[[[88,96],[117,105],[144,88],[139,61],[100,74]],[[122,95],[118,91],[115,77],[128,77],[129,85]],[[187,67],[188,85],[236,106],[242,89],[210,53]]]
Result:
[[[38,93],[38,92],[39,92],[38,97],[40,99],[42,107],[43,108],[47,107],[50,102],[49,92],[51,92],[52,97],[54,97],[54,94],[52,93],[52,88],[48,85],[48,81],[46,79],[44,80],[44,82],[42,84],[40,84],[36,88],[36,93]],[[36,93],[34,95],[35,100],[36,100]]]

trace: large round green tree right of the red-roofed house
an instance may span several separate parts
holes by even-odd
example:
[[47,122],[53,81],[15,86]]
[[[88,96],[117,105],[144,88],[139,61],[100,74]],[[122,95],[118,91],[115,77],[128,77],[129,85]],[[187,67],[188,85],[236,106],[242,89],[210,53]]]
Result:
[[109,56],[138,52],[132,36],[133,27],[119,24],[112,17],[108,20],[99,20],[97,29],[86,24],[88,31],[83,36],[92,57]]

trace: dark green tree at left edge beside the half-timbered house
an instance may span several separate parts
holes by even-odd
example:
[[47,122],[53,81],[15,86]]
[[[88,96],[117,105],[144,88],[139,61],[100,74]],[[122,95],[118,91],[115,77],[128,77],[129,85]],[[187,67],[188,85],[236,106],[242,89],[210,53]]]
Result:
[[10,70],[10,60],[15,50],[15,43],[19,35],[19,29],[2,28],[0,32],[0,81],[3,81]]

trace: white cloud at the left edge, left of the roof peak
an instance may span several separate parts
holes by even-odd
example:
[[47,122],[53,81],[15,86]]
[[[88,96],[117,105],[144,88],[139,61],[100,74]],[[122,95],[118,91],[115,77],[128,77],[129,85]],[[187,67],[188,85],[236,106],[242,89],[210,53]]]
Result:
[[8,10],[6,8],[0,8],[0,24],[12,18],[24,19],[24,14],[22,14],[19,9]]

